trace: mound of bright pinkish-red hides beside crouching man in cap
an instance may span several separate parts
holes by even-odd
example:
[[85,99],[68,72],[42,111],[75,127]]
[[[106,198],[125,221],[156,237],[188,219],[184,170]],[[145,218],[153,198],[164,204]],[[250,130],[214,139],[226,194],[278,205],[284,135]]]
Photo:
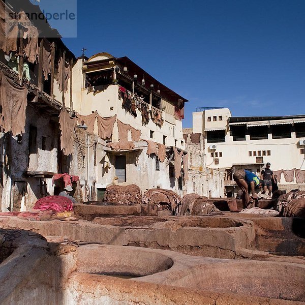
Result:
[[34,206],[35,210],[52,210],[56,212],[73,211],[73,202],[64,196],[48,196],[39,199]]

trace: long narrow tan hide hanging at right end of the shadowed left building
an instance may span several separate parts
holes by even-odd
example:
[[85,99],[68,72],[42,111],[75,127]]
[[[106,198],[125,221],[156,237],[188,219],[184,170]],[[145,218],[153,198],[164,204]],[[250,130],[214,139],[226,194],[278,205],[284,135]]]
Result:
[[73,153],[73,132],[75,127],[76,117],[71,118],[67,110],[60,111],[59,129],[62,131],[60,134],[60,148],[66,156]]

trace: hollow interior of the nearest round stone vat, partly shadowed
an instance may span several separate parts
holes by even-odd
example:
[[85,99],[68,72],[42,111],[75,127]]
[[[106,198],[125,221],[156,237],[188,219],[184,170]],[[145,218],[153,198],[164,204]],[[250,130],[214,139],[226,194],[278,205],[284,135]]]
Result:
[[77,249],[77,265],[79,272],[134,278],[165,271],[173,261],[154,250],[86,245]]

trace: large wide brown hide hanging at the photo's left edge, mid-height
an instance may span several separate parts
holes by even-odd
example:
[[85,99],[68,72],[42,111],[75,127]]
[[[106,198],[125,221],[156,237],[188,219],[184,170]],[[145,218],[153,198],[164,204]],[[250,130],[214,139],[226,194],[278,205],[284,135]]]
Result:
[[0,73],[0,127],[13,136],[24,133],[27,89]]

